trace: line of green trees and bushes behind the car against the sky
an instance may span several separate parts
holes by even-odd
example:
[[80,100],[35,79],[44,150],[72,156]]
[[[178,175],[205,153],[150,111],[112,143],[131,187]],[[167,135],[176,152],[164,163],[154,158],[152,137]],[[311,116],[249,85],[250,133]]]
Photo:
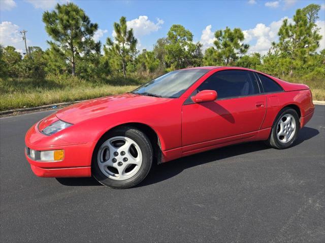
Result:
[[[325,49],[317,52],[321,35],[315,24],[319,5],[298,9],[293,23],[283,20],[278,42],[266,55],[247,55],[240,28],[215,31],[213,46],[203,53],[202,44],[193,42],[190,30],[171,26],[152,51],[137,50],[133,29],[126,18],[114,23],[113,39],[105,45],[93,36],[98,24],[74,3],[57,4],[43,14],[45,30],[51,38],[49,48],[28,47],[24,57],[12,46],[0,46],[0,77],[44,78],[47,74],[74,75],[86,80],[112,76],[153,77],[175,69],[196,66],[241,66],[280,77],[325,78]],[[104,52],[101,53],[102,47]]]

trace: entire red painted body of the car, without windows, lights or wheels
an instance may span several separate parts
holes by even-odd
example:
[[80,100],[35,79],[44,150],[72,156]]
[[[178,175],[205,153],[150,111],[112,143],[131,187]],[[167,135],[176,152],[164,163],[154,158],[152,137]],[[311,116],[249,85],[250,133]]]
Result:
[[[90,176],[92,152],[98,140],[110,129],[128,123],[140,123],[155,131],[163,152],[161,162],[165,162],[226,145],[266,140],[278,112],[285,106],[298,107],[301,127],[313,115],[307,86],[270,75],[284,92],[216,100],[216,92],[202,91],[194,98],[200,103],[186,104],[190,94],[211,74],[226,69],[250,70],[204,68],[209,71],[177,99],[115,95],[80,102],[44,118],[26,133],[26,146],[35,150],[64,149],[65,157],[58,162],[27,157],[32,171],[43,177]],[[58,119],[74,125],[51,136],[39,131]]]

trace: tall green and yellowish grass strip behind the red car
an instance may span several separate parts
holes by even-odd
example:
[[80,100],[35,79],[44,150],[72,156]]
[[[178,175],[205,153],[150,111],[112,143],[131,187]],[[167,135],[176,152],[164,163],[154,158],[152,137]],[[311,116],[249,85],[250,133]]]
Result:
[[[86,100],[129,92],[148,81],[146,78],[112,78],[89,82],[72,76],[48,76],[42,80],[30,78],[0,78],[0,111],[76,100]],[[322,79],[284,78],[291,83],[306,84],[314,100],[325,100]]]

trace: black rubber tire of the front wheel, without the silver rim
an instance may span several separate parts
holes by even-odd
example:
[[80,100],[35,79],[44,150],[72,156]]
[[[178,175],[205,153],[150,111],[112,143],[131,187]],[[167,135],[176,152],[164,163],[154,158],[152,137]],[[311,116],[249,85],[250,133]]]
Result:
[[[106,176],[98,165],[98,152],[102,144],[112,137],[123,136],[134,140],[142,152],[142,164],[139,171],[131,178],[125,180],[114,180]],[[114,188],[125,189],[139,184],[149,173],[152,166],[153,150],[149,138],[140,130],[133,127],[119,127],[109,131],[97,143],[91,161],[91,171],[93,177],[101,184]]]

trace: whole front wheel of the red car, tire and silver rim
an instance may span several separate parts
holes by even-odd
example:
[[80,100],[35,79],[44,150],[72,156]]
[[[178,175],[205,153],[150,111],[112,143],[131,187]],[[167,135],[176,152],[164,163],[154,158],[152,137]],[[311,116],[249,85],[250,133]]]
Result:
[[92,156],[92,174],[101,184],[129,188],[140,183],[152,165],[148,137],[132,127],[121,127],[100,139]]

